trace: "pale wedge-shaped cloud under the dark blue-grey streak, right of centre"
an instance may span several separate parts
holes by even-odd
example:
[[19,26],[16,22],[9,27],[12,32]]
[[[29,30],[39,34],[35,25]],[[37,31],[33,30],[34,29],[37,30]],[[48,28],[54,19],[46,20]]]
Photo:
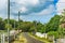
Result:
[[54,5],[49,5],[48,9],[44,9],[43,11],[39,12],[39,13],[32,13],[35,15],[48,15],[48,14],[52,14],[54,13],[56,10],[55,10],[55,6]]

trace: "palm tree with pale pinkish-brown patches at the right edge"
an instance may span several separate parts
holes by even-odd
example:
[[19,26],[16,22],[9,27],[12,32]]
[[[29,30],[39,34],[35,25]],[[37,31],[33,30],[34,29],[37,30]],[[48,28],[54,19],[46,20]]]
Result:
[[65,33],[65,10],[64,10],[64,12],[62,12],[60,23],[61,23],[60,28],[61,28],[61,31],[62,31],[61,35],[62,35],[62,38],[64,38],[64,33]]

